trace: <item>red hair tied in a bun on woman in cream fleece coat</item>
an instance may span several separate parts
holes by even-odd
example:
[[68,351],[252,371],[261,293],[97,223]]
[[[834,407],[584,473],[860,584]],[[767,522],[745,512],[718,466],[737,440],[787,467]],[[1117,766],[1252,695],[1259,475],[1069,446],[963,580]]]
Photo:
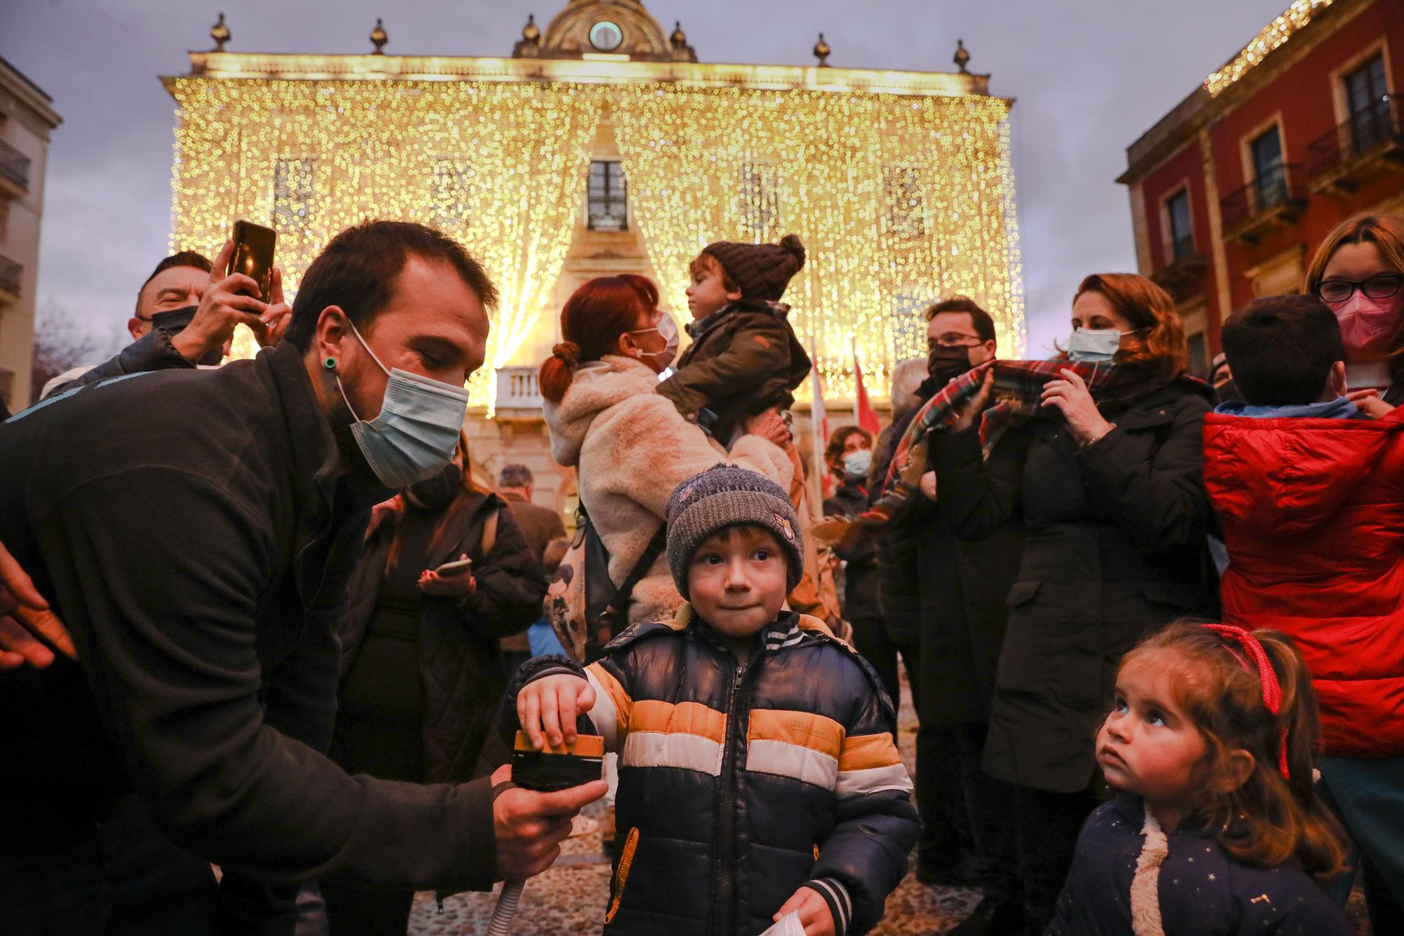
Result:
[[658,287],[649,277],[625,273],[595,277],[566,299],[560,311],[560,334],[564,339],[536,374],[541,395],[559,403],[570,386],[570,368],[598,361],[616,353],[619,336],[639,327],[644,316],[658,308]]

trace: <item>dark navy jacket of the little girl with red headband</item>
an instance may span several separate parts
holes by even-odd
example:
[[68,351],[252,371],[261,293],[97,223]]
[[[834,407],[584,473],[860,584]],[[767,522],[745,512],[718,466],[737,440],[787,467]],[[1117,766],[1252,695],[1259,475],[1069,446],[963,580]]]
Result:
[[[1130,892],[1146,843],[1139,797],[1123,793],[1087,819],[1047,936],[1132,933]],[[1165,936],[1351,936],[1353,928],[1302,869],[1255,867],[1202,829],[1167,833],[1157,890]],[[1141,930],[1134,930],[1141,932]]]

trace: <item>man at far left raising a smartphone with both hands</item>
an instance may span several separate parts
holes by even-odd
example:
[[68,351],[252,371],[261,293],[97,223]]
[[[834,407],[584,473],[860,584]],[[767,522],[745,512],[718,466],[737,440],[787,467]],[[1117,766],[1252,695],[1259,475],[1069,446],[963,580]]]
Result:
[[292,315],[282,301],[282,273],[272,268],[265,301],[253,278],[225,274],[233,252],[234,242],[226,240],[213,264],[194,250],[156,264],[136,291],[136,311],[126,320],[132,343],[97,367],[59,374],[39,398],[124,374],[218,364],[237,325],[247,325],[261,346],[275,344]]

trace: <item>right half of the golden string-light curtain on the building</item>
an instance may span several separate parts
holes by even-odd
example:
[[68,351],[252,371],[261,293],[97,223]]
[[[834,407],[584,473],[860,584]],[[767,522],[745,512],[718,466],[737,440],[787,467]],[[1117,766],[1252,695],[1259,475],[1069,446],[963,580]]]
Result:
[[[1022,351],[1024,299],[1008,103],[826,91],[629,86],[615,136],[664,297],[685,309],[688,261],[712,240],[793,232],[809,254],[785,301],[826,392],[886,396],[925,354],[921,309],[960,292]],[[807,386],[803,391],[807,394]]]

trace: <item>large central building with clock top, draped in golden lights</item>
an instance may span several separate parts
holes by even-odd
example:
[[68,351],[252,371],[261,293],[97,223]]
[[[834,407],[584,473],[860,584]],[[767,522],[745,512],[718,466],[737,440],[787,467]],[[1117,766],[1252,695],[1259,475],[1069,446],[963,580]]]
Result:
[[390,28],[364,55],[251,53],[225,48],[220,17],[216,48],[163,79],[178,104],[171,247],[213,256],[233,221],[271,225],[295,291],[365,218],[458,238],[501,292],[469,384],[475,460],[528,464],[541,500],[569,481],[535,371],[597,275],[654,278],[681,325],[705,245],[797,233],[809,261],[785,299],[831,410],[851,401],[855,350],[885,396],[893,364],[925,354],[922,308],[952,292],[1024,347],[1012,100],[963,45],[953,72],[831,66],[823,37],[812,66],[706,63],[639,0],[570,0],[503,58],[392,55]]

